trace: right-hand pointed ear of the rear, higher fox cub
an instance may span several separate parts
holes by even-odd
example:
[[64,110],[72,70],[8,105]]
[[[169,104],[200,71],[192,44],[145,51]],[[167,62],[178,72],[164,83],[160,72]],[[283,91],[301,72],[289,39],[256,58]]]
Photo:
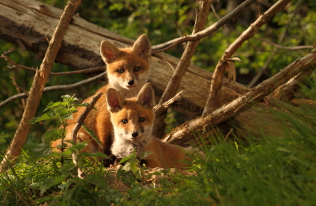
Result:
[[138,37],[131,52],[140,58],[147,59],[151,54],[151,43],[146,34]]

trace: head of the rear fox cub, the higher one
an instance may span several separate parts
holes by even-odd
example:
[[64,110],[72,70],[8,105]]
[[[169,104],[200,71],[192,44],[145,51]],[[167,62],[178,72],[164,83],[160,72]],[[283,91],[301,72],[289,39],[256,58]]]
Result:
[[147,35],[140,36],[133,47],[118,49],[112,43],[103,41],[100,47],[101,56],[107,64],[109,84],[115,89],[138,91],[149,78],[148,56],[151,54],[151,43]]

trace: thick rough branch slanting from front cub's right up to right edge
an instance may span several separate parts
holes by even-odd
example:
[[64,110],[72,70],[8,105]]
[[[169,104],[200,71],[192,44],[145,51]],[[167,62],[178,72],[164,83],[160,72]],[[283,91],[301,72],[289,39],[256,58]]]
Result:
[[179,144],[179,142],[183,144],[184,142],[189,141],[189,139],[193,139],[194,134],[198,135],[204,131],[211,130],[213,127],[230,119],[255,102],[262,100],[264,96],[271,93],[275,88],[284,84],[284,82],[288,81],[299,72],[315,65],[316,49],[304,58],[295,60],[295,62],[282,69],[282,71],[275,76],[258,84],[248,93],[240,95],[239,98],[233,100],[231,103],[225,104],[220,108],[215,109],[215,111],[206,113],[201,117],[185,122],[182,126],[175,128],[169,135],[167,135],[167,137],[165,137],[164,141],[173,144]]

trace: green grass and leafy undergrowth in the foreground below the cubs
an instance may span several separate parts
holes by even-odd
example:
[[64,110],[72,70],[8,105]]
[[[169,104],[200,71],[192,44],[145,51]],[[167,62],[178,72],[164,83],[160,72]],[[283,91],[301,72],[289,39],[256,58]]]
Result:
[[[310,82],[302,92],[316,100],[315,89]],[[37,161],[23,153],[0,174],[0,205],[316,205],[315,108],[269,112],[279,119],[277,135],[209,137],[204,159],[195,159],[187,173],[159,170],[154,174],[165,178],[156,182],[134,157],[114,176],[95,157],[83,158],[83,180],[72,175],[67,156],[62,166],[54,153]],[[117,190],[116,181],[128,189]]]

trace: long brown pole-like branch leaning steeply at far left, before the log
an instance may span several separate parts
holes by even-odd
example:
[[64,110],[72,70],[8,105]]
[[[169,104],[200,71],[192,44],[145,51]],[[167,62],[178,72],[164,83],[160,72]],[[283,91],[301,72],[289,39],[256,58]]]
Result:
[[50,69],[52,68],[59,48],[61,47],[61,41],[63,41],[63,36],[67,30],[67,26],[72,20],[72,15],[80,3],[81,0],[70,0],[65,7],[65,12],[63,12],[61,20],[52,35],[52,40],[48,45],[48,50],[45,53],[41,67],[39,71],[36,71],[21,122],[14,135],[14,139],[6,152],[5,158],[3,158],[3,161],[1,162],[1,172],[7,170],[8,164],[10,163],[9,161],[13,161],[15,157],[20,155],[21,147],[23,147],[28,131],[30,130],[30,124],[28,123],[36,113],[45,83],[48,80]]

